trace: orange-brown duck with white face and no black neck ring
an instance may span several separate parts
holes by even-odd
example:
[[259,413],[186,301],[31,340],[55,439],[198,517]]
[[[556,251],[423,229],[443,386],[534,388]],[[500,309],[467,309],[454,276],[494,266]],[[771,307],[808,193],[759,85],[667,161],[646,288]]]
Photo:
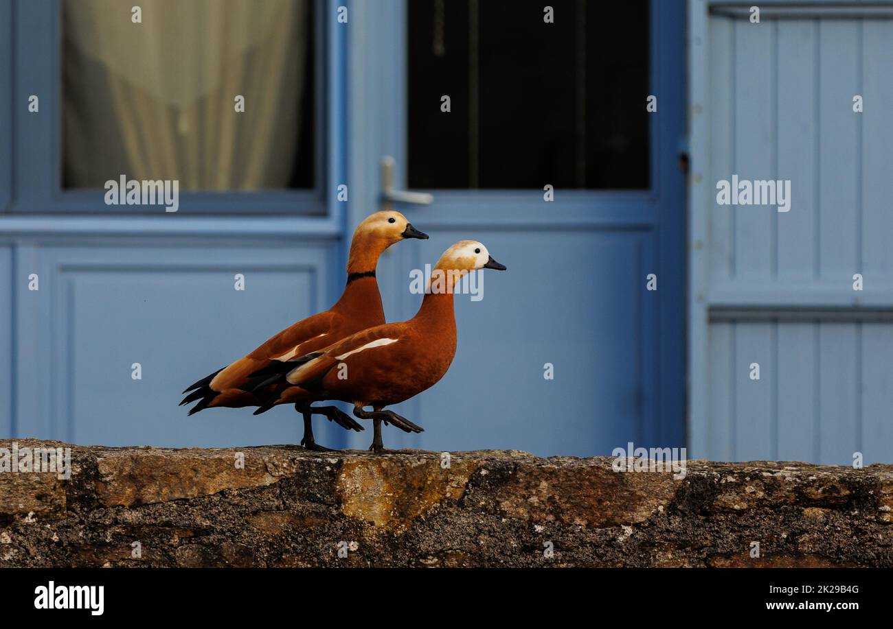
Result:
[[[255,414],[292,402],[350,402],[357,418],[372,420],[375,435],[370,450],[375,452],[384,450],[382,422],[421,433],[420,426],[384,407],[425,391],[447,373],[456,347],[455,284],[478,269],[505,270],[505,266],[493,260],[483,244],[473,240],[454,244],[440,257],[413,319],[371,327],[291,364],[265,369],[258,374],[265,377],[258,388],[274,385],[275,389]],[[364,410],[367,406],[372,410]]]

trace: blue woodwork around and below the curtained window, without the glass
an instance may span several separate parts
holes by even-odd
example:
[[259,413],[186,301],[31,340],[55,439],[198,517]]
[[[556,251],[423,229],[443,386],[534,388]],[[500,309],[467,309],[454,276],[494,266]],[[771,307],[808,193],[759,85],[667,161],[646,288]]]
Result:
[[[38,94],[41,110],[18,115],[12,138],[0,116],[0,156],[15,157],[2,161],[16,164],[17,193],[15,213],[0,216],[0,303],[10,304],[0,311],[0,353],[12,358],[0,367],[8,404],[0,436],[172,446],[299,440],[293,409],[187,419],[177,403],[183,387],[327,308],[343,287],[346,213],[335,194],[348,182],[347,34],[334,26],[339,3],[317,1],[319,189],[183,194],[187,211],[159,216],[109,215],[101,194],[59,189],[58,2],[16,1],[12,25],[0,20],[0,41],[16,43],[12,56],[0,45],[0,87],[15,78],[0,93],[13,94],[17,113]],[[15,37],[2,37],[4,27]],[[0,174],[0,202],[11,188],[4,182]],[[193,212],[220,216],[184,215]],[[28,290],[31,272],[38,292]],[[236,273],[246,275],[245,292],[233,288]],[[140,381],[130,378],[133,362],[143,366]],[[337,445],[340,435],[318,424],[321,443]]]

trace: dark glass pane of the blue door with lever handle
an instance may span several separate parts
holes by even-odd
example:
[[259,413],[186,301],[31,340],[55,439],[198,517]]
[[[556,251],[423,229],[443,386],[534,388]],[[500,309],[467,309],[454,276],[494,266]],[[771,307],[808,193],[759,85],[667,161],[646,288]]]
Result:
[[409,186],[648,186],[647,0],[407,4]]

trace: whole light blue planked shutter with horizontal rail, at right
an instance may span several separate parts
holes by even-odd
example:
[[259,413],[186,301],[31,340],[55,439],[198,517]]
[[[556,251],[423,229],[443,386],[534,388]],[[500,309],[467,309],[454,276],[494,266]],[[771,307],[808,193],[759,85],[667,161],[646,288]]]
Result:
[[[717,4],[730,3],[689,2],[692,454],[889,461],[893,370],[881,356],[893,325],[858,319],[893,311],[893,130],[867,105],[893,96],[893,3],[759,25],[709,12]],[[853,111],[857,94],[863,113]],[[732,172],[790,179],[791,211],[718,206],[714,185]],[[853,290],[854,273],[864,291]],[[822,312],[831,307],[839,311]],[[745,308],[815,316],[722,316]],[[841,313],[849,320],[831,319]],[[768,360],[765,389],[744,379],[743,353]]]

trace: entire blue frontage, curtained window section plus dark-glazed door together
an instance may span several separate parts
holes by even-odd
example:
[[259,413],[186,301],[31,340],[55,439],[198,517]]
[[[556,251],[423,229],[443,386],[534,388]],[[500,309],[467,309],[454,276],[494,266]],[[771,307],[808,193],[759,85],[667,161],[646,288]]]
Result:
[[[330,305],[387,202],[431,235],[381,261],[388,320],[448,244],[508,266],[455,297],[453,367],[397,408],[426,432],[388,446],[682,445],[683,6],[617,4],[0,5],[0,435],[297,443],[290,408],[179,392]],[[385,158],[433,203],[384,194]],[[177,211],[121,176],[179,181]]]

